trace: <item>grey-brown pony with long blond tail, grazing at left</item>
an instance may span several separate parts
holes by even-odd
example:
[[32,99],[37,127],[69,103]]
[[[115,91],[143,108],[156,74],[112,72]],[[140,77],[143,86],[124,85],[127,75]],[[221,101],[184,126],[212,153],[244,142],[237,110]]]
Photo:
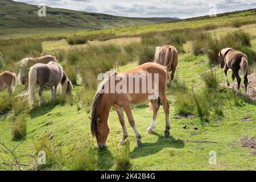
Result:
[[63,86],[65,92],[72,94],[73,85],[63,72],[61,65],[51,61],[48,64],[38,63],[30,68],[28,73],[28,91],[24,95],[28,95],[28,106],[35,109],[35,88],[39,85],[39,104],[44,104],[43,90],[46,86],[51,88],[52,100],[55,100],[57,86],[59,83]]

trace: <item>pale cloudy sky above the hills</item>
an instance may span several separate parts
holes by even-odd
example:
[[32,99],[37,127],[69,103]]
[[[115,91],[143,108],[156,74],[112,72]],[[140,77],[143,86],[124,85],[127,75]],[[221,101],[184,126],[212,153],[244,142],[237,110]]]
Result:
[[32,5],[129,17],[178,17],[219,14],[256,8],[256,0],[15,0]]

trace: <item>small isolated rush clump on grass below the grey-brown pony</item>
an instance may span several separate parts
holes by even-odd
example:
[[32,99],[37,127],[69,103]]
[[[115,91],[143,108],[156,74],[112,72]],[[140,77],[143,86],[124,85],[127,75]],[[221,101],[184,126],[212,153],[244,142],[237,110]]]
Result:
[[26,137],[26,130],[27,125],[24,117],[16,118],[12,128],[13,139],[22,139]]

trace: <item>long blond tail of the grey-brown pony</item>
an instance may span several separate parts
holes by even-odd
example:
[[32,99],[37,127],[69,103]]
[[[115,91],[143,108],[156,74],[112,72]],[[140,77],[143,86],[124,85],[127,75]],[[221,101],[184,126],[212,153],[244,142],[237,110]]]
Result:
[[35,105],[35,88],[38,80],[36,67],[31,67],[28,73],[28,106],[32,109]]

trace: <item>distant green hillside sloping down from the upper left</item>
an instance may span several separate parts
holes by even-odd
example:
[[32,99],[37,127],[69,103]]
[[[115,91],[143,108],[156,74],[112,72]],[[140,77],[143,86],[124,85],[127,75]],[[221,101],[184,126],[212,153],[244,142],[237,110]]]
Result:
[[129,18],[85,11],[46,7],[46,17],[38,16],[38,6],[10,0],[0,1],[0,28],[112,28],[163,23],[177,18]]

